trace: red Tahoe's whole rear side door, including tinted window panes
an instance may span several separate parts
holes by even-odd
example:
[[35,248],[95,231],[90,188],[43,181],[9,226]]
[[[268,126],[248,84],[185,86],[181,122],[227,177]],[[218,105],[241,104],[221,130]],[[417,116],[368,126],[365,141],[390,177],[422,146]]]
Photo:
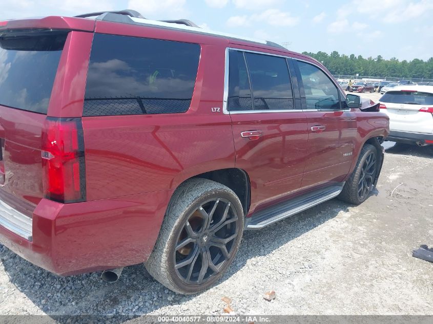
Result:
[[236,167],[250,176],[253,210],[300,188],[307,119],[286,58],[233,49],[229,65],[226,110],[233,122]]

